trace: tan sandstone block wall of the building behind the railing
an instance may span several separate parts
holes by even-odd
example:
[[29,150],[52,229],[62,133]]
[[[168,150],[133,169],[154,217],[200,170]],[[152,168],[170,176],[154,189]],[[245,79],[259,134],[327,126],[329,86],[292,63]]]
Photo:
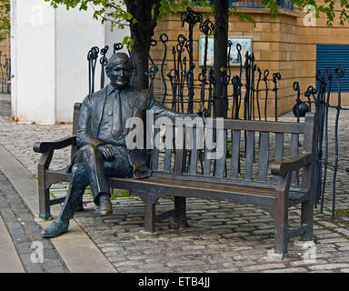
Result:
[[[340,5],[336,5],[336,15],[338,15]],[[204,8],[196,8],[195,11],[206,13]],[[260,66],[261,70],[270,71],[269,88],[273,88],[272,75],[280,72],[282,79],[278,82],[279,100],[278,115],[282,115],[292,110],[296,98],[293,89],[294,81],[301,85],[301,97],[309,85],[315,85],[316,71],[316,45],[317,44],[348,44],[349,28],[348,25],[339,25],[339,20],[334,21],[334,26],[326,26],[326,17],[316,19],[316,26],[304,25],[304,12],[298,9],[289,11],[280,9],[279,15],[272,19],[267,8],[240,8],[248,15],[251,15],[256,21],[255,26],[252,23],[241,23],[237,21],[237,16],[230,16],[229,35],[241,35],[253,37],[253,52],[255,64]],[[211,15],[211,20],[214,17]],[[179,34],[188,37],[188,25],[182,27],[180,14],[165,17],[165,20],[156,28],[155,40],[159,35],[166,33],[169,36],[168,53],[166,58],[166,72],[171,69],[173,56],[172,47],[176,44],[176,38]],[[198,30],[198,25],[194,27],[194,76],[201,72],[201,66],[198,62],[198,39],[202,35]],[[156,62],[161,62],[163,57],[163,45],[158,42],[152,50],[152,57]],[[167,74],[165,72],[165,75]],[[349,74],[347,72],[346,74]],[[233,69],[233,75],[238,75],[238,69]],[[159,82],[155,83],[159,84]],[[169,85],[167,85],[170,88]],[[199,94],[195,94],[198,96]],[[267,115],[274,115],[273,93],[269,93]],[[333,94],[334,102],[336,94]],[[349,105],[349,94],[342,93],[343,105]],[[262,95],[263,99],[263,95]],[[264,108],[263,100],[261,103]]]

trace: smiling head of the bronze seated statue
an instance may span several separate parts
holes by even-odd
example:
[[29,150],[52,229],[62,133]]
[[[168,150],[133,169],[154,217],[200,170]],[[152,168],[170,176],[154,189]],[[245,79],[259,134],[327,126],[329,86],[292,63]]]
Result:
[[115,88],[124,88],[130,85],[132,70],[131,59],[125,53],[112,55],[105,66],[106,75]]

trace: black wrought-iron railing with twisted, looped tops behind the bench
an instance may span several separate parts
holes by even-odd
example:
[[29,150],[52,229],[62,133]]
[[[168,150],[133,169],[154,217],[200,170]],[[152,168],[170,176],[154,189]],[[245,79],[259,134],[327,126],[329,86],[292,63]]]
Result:
[[[278,81],[282,75],[280,73],[271,74],[268,69],[262,70],[255,64],[254,53],[248,51],[242,55],[242,47],[237,44],[233,46],[228,42],[227,49],[230,55],[232,50],[236,50],[239,64],[237,66],[237,75],[233,75],[233,69],[227,64],[227,74],[221,80],[214,78],[213,68],[207,65],[207,41],[208,35],[214,29],[214,25],[202,19],[192,10],[188,10],[182,15],[184,25],[187,24],[189,30],[193,29],[194,22],[201,22],[200,31],[204,35],[204,62],[201,73],[194,75],[193,59],[193,39],[186,38],[184,35],[178,35],[176,44],[169,49],[167,47],[168,36],[160,35],[158,41],[153,40],[152,46],[161,46],[164,51],[164,57],[161,62],[155,63],[149,56],[150,68],[147,72],[149,76],[149,87],[156,99],[163,105],[178,112],[193,113],[194,104],[199,104],[200,108],[208,109],[211,116],[216,116],[216,105],[218,99],[223,99],[225,112],[229,112],[228,118],[246,120],[267,120],[267,107],[274,104],[274,120],[278,118]],[[189,31],[189,35],[192,35]],[[114,45],[114,53],[122,48],[121,44]],[[158,49],[158,47],[157,47]],[[88,53],[89,68],[89,93],[95,91],[95,66],[98,58],[101,65],[101,88],[105,85],[105,65],[107,60],[105,54],[108,47],[99,50],[93,47]],[[172,54],[171,57],[167,57]],[[243,62],[244,56],[244,62]],[[167,64],[166,60],[171,59],[172,64]],[[165,66],[171,67],[165,74]],[[236,72],[236,70],[235,70]],[[134,72],[135,73],[135,72]],[[135,74],[133,74],[135,75]],[[335,208],[336,177],[338,171],[349,172],[349,167],[340,165],[339,158],[339,117],[342,110],[349,110],[341,105],[341,78],[344,76],[344,68],[337,68],[319,71],[316,74],[317,88],[309,86],[304,93],[305,101],[301,99],[300,85],[294,82],[294,91],[296,92],[294,116],[298,122],[304,117],[306,112],[315,110],[317,113],[317,147],[315,153],[315,171],[314,171],[314,193],[315,203],[320,204],[321,211],[324,208],[325,184],[328,180],[328,169],[334,173],[332,176],[332,196],[333,196],[333,215]],[[155,88],[155,78],[160,85]],[[226,86],[224,94],[215,95],[215,86],[218,82]],[[331,89],[336,86],[338,90],[336,104],[333,105]],[[156,90],[155,90],[156,89]],[[313,107],[313,108],[312,108]],[[197,106],[196,106],[197,108]],[[329,109],[335,109],[334,125],[329,120]],[[329,146],[329,142],[332,146]]]

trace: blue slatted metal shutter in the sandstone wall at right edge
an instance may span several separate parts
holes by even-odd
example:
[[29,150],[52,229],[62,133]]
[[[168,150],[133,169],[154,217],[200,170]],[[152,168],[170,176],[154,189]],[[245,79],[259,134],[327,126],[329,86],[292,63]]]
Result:
[[[334,75],[334,69],[338,65],[342,65],[345,71],[344,76],[340,78],[341,91],[349,92],[349,45],[316,45],[316,72],[330,67]],[[335,75],[332,92],[338,92]]]

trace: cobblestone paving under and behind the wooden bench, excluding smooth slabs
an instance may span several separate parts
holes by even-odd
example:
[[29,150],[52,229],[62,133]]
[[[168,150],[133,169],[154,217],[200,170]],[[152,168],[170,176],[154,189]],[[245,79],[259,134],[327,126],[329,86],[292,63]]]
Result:
[[[344,112],[341,128],[348,125],[349,112]],[[0,117],[0,143],[34,175],[40,155],[33,152],[33,143],[54,140],[70,132],[71,125],[20,125]],[[333,147],[333,140],[329,144]],[[348,144],[349,135],[341,130],[342,166],[349,165]],[[68,160],[68,151],[57,151],[53,167],[66,166]],[[335,219],[330,217],[331,183],[328,169],[324,214],[319,213],[319,206],[314,211],[315,247],[290,242],[288,256],[279,262],[266,258],[268,249],[274,247],[274,220],[254,206],[189,198],[190,227],[176,229],[167,219],[156,224],[157,236],[142,237],[145,206],[138,197],[113,200],[114,214],[99,217],[91,196],[85,195],[85,211],[76,214],[75,221],[118,272],[349,272],[348,174],[338,172]],[[57,186],[53,191],[64,193],[65,186]],[[160,199],[156,213],[171,208],[171,199]],[[299,206],[290,209],[289,218],[290,226],[299,226]]]

